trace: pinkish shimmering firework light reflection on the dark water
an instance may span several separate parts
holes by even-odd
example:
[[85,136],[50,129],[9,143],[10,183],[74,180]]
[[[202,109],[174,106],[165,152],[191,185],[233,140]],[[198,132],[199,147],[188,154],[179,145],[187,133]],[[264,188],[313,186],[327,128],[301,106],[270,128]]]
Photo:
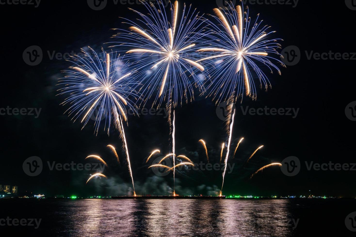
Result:
[[[63,204],[63,203],[62,203]],[[78,200],[61,205],[60,235],[291,236],[289,200]],[[59,226],[57,226],[59,227]]]

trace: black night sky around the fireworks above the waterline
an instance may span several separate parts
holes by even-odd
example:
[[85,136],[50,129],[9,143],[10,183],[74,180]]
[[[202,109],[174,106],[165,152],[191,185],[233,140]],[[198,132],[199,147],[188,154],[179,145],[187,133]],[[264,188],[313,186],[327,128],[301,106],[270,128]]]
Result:
[[[182,1],[181,1],[182,2]],[[204,3],[203,3],[204,2]],[[201,12],[213,13],[215,1],[190,0]],[[126,27],[118,17],[133,19],[127,7],[142,10],[137,4],[122,5],[108,1],[105,9],[94,11],[85,0],[42,0],[33,5],[0,5],[1,18],[1,105],[0,108],[41,108],[34,116],[1,115],[1,172],[0,184],[17,185],[25,191],[46,195],[117,195],[130,191],[130,178],[121,152],[117,132],[110,137],[105,132],[95,136],[88,125],[83,130],[80,122],[73,123],[65,108],[64,99],[56,97],[57,78],[68,66],[64,60],[51,60],[56,53],[78,53],[90,45],[100,50],[114,33],[110,28]],[[355,52],[354,27],[356,11],[344,1],[329,4],[325,1],[300,0],[291,5],[250,5],[250,16],[257,13],[265,24],[271,25],[282,38],[282,48],[296,45],[302,52],[295,66],[282,68],[282,76],[269,76],[272,89],[257,90],[257,101],[245,99],[242,106],[250,108],[299,108],[296,118],[291,116],[243,115],[237,104],[232,147],[245,137],[237,151],[232,173],[225,177],[224,194],[241,195],[314,195],[354,197],[356,171],[307,170],[305,161],[314,163],[354,163],[355,122],[345,116],[345,107],[355,101],[353,60],[308,60],[305,51],[324,53]],[[37,66],[27,65],[23,51],[38,45],[43,60]],[[105,45],[104,45],[105,47]],[[356,57],[355,57],[356,58]],[[215,112],[211,99],[198,97],[191,104],[176,110],[176,150],[187,154],[194,162],[205,161],[205,153],[198,140],[207,142],[210,160],[219,162],[220,145],[226,142],[224,122]],[[169,125],[163,116],[129,116],[125,128],[128,140],[136,193],[146,191],[168,194],[173,186],[172,173],[156,176],[147,169],[145,159],[156,148],[163,154],[170,151]],[[121,166],[106,148],[113,144],[119,152]],[[248,156],[259,146],[253,160],[241,167]],[[56,163],[87,163],[89,154],[99,154],[109,168],[104,171],[108,180],[94,180],[85,185],[90,171],[51,171],[47,161]],[[29,177],[22,163],[30,156],[42,159],[40,175]],[[297,156],[302,163],[298,175],[287,177],[273,167],[248,177],[263,165],[281,162],[288,156]],[[221,187],[221,171],[184,171],[176,174],[179,194],[212,194]]]

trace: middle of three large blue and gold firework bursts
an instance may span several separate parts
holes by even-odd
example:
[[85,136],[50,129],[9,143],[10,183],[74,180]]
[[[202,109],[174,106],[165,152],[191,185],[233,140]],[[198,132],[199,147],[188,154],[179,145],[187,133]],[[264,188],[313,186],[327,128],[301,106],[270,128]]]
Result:
[[126,53],[135,62],[141,78],[143,104],[154,96],[152,105],[158,101],[157,106],[160,106],[166,101],[166,105],[174,108],[182,103],[183,97],[186,102],[194,99],[192,84],[204,91],[201,77],[195,73],[204,71],[204,67],[195,62],[199,55],[196,50],[203,43],[204,19],[185,4],[182,17],[178,17],[178,1],[171,5],[171,14],[159,3],[156,7],[142,1],[147,15],[131,9],[141,18],[136,22],[127,20],[130,31],[114,37],[120,39],[116,43],[121,46],[134,47]]

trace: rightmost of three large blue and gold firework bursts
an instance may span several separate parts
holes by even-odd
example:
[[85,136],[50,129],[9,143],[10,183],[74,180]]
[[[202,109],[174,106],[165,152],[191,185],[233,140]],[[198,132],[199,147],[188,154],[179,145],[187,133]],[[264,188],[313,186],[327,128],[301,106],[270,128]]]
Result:
[[277,50],[281,45],[277,43],[281,39],[267,39],[274,33],[270,32],[269,26],[263,26],[262,21],[253,22],[248,17],[248,8],[243,11],[243,6],[236,6],[230,1],[229,6],[213,9],[216,16],[210,22],[211,31],[206,34],[209,37],[209,47],[198,49],[205,57],[196,62],[206,61],[210,65],[211,81],[207,87],[209,96],[216,103],[226,101],[232,95],[236,98],[246,96],[256,99],[254,79],[260,82],[260,87],[268,89],[271,84],[265,72],[258,65],[267,67],[271,73],[276,70],[279,75],[281,71],[275,64],[286,67],[278,58],[282,57]]

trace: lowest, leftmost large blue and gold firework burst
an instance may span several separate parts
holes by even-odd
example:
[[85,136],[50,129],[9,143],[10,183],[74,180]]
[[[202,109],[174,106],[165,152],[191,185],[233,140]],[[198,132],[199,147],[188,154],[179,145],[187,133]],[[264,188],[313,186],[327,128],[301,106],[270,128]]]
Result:
[[100,57],[89,49],[89,52],[82,49],[82,57],[72,56],[75,66],[63,71],[67,75],[59,79],[59,85],[63,87],[59,95],[69,94],[62,105],[69,105],[66,112],[72,120],[80,118],[84,128],[92,118],[96,134],[103,120],[104,130],[107,127],[109,134],[112,113],[119,114],[126,121],[125,106],[133,110],[130,98],[137,97],[134,88],[138,83],[130,78],[129,65],[122,62],[120,55],[107,54],[103,50],[103,57]]

